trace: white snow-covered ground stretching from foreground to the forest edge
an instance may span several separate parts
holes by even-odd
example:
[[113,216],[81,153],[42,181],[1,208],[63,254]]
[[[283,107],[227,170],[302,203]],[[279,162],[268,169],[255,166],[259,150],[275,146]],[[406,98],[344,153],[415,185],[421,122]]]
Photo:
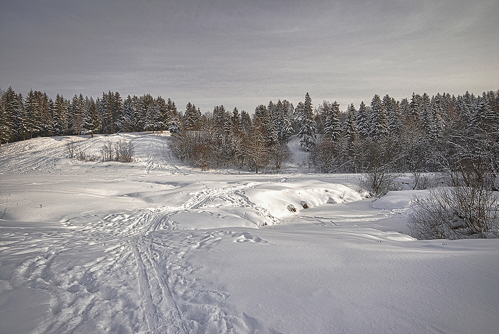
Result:
[[[67,158],[120,138],[134,163]],[[0,147],[0,333],[497,333],[499,240],[415,240],[414,192],[362,199],[296,140],[255,175],[187,167],[170,139]]]

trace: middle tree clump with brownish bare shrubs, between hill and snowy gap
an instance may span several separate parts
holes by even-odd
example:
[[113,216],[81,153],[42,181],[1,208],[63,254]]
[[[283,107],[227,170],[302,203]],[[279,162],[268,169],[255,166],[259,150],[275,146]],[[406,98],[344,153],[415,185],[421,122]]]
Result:
[[[177,157],[194,166],[279,169],[291,154],[285,145],[298,128],[298,117],[289,101],[259,105],[252,116],[223,105],[201,115],[190,103],[175,135]],[[293,128],[293,122],[295,128]]]

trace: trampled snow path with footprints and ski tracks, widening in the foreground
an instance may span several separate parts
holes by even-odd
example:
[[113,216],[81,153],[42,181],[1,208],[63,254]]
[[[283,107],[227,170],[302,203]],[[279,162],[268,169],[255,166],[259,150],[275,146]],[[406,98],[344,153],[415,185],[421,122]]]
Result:
[[[50,313],[32,332],[36,334],[252,332],[257,323],[251,320],[250,325],[244,315],[224,308],[228,294],[204,288],[185,254],[225,238],[265,241],[249,232],[175,230],[168,218],[214,200],[261,211],[243,194],[261,183],[194,192],[179,207],[74,217],[60,222],[61,228],[38,234],[0,231],[1,239],[9,240],[0,246],[3,258],[14,260],[21,254],[26,258],[31,253],[6,285],[9,290],[34,288],[50,295]],[[77,264],[65,261],[66,252],[82,247],[95,248],[90,254],[96,256]]]

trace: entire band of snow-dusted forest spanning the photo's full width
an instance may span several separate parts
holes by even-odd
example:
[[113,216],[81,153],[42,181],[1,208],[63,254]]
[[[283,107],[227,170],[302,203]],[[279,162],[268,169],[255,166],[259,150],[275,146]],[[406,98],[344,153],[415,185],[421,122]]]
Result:
[[[499,172],[499,90],[475,96],[413,93],[396,101],[375,95],[344,111],[336,102],[313,107],[307,93],[296,107],[287,100],[258,105],[254,113],[215,106],[185,110],[150,94],[122,98],[103,93],[95,100],[9,87],[1,92],[0,143],[42,136],[170,131],[178,158],[202,169],[279,169],[289,160],[286,142],[300,138],[319,172],[456,171],[484,168],[493,186]],[[471,166],[468,166],[470,165]]]

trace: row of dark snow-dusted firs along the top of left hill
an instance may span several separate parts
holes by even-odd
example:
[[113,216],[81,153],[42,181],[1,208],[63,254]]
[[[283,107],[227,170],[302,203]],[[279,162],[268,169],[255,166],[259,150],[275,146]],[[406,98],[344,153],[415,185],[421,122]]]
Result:
[[118,92],[92,97],[74,95],[67,100],[57,94],[30,90],[23,98],[12,87],[0,94],[0,143],[34,137],[113,134],[117,132],[180,129],[175,103],[150,94],[122,99]]

